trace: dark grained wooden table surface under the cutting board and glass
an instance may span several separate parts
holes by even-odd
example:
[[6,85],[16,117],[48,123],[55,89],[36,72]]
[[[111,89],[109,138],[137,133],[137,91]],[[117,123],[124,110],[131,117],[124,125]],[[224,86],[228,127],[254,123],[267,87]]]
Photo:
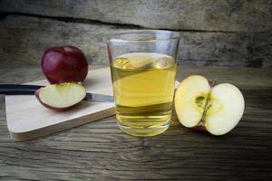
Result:
[[[242,90],[246,110],[236,129],[214,137],[174,120],[160,136],[135,138],[110,117],[15,142],[8,135],[1,95],[0,180],[272,180],[272,70],[180,67],[177,78],[190,74]],[[0,68],[0,83],[40,79],[39,67]]]

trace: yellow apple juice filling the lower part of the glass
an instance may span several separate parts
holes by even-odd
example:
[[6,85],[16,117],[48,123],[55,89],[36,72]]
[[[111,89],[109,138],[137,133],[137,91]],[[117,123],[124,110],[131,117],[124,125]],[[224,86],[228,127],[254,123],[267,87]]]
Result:
[[176,67],[172,57],[153,52],[131,52],[114,60],[112,84],[121,130],[147,137],[168,129]]

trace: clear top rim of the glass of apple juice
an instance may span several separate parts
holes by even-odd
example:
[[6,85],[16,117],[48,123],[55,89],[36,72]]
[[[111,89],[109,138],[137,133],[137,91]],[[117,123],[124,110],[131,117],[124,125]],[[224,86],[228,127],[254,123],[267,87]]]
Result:
[[[118,36],[121,35],[126,35],[126,34],[169,34],[170,36],[167,38],[152,38],[152,39],[144,39],[140,40],[137,38],[134,39],[126,39],[126,38],[121,38]],[[126,31],[121,31],[119,33],[114,33],[108,37],[108,41],[118,41],[118,42],[148,42],[148,41],[168,41],[168,40],[173,40],[173,39],[180,39],[180,33],[174,32],[174,31],[168,31],[168,30],[126,30]]]

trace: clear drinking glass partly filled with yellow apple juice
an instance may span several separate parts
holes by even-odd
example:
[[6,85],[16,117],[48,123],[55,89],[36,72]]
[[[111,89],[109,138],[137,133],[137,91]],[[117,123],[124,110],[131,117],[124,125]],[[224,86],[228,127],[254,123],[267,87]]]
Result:
[[108,53],[119,128],[150,137],[169,128],[180,34],[137,30],[112,35]]

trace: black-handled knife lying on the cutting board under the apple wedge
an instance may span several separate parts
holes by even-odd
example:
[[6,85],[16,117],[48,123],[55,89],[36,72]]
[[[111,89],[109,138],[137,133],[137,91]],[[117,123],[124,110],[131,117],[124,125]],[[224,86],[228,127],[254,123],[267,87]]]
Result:
[[[35,90],[44,86],[26,84],[0,84],[0,94],[5,95],[34,95]],[[87,92],[86,101],[114,102],[113,96]]]

